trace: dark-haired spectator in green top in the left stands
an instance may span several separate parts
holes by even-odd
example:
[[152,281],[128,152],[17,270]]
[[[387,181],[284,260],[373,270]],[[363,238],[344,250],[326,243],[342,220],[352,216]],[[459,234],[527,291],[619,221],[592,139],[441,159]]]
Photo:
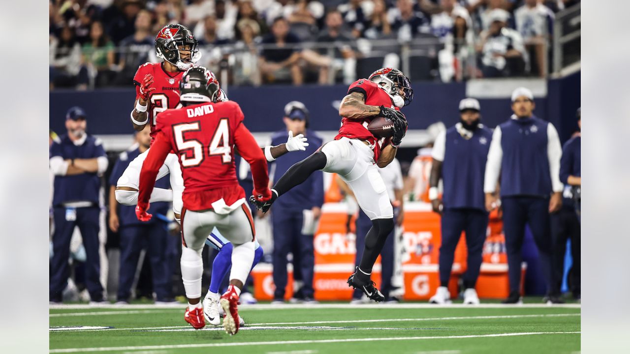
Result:
[[95,86],[106,86],[112,81],[114,67],[114,43],[105,34],[103,24],[94,21],[89,31],[90,41],[83,45],[83,64],[88,67]]

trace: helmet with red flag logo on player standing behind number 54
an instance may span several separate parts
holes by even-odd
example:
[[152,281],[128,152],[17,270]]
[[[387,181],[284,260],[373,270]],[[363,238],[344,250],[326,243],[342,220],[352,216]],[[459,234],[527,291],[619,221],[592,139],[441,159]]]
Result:
[[[190,69],[200,58],[197,39],[193,33],[182,25],[166,25],[156,36],[156,53],[167,62],[178,67],[181,71]],[[188,58],[183,59],[181,52],[190,52]]]

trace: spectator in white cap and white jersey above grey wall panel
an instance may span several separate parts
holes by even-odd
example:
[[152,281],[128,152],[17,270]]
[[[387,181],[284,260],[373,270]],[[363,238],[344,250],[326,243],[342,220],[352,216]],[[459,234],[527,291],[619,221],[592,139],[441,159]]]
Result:
[[507,28],[510,14],[494,9],[490,14],[490,28],[481,33],[477,51],[481,52],[481,71],[484,77],[515,76],[525,67],[525,47],[520,33]]

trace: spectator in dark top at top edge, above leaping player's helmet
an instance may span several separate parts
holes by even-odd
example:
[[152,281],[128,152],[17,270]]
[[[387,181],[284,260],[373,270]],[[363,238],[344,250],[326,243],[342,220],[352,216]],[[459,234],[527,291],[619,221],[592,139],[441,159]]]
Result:
[[411,0],[396,1],[396,8],[389,11],[389,22],[398,40],[406,42],[419,33],[429,33],[430,21],[425,14],[413,9]]

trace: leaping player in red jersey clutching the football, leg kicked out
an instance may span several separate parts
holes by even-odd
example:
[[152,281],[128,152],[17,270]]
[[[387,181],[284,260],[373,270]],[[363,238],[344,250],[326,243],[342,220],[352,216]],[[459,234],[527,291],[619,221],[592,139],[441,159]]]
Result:
[[[339,174],[372,220],[372,228],[365,236],[363,256],[355,273],[348,278],[348,285],[362,290],[377,302],[384,297],[374,287],[370,273],[387,235],[394,229],[392,205],[377,167],[387,166],[396,156],[407,131],[407,120],[400,108],[411,103],[412,99],[411,83],[397,69],[379,69],[368,79],[356,81],[341,101],[341,128],[335,140],[291,166],[273,186],[270,200],[261,201],[261,196],[256,194],[251,197],[256,207],[266,212],[276,198],[305,181],[314,171],[321,169]],[[375,117],[385,117],[393,122],[394,135],[391,138],[379,139],[367,130],[367,125]]]

